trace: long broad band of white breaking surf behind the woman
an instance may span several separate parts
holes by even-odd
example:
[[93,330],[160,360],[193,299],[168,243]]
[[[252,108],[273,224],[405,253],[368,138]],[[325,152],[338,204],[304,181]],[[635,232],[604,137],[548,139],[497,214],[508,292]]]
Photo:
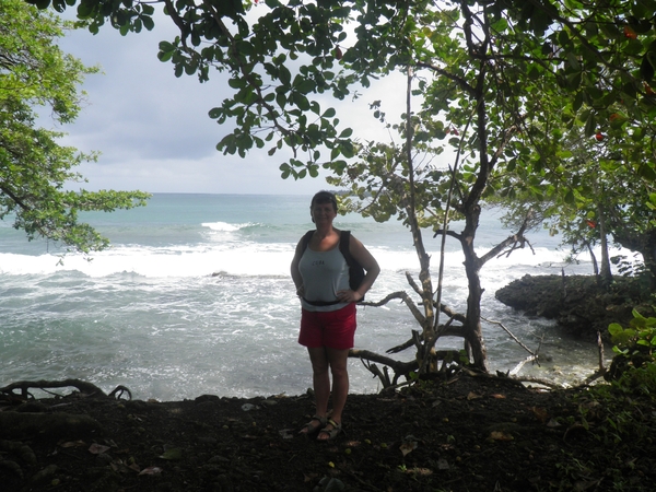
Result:
[[[148,278],[194,278],[224,273],[230,276],[289,276],[289,266],[295,245],[292,243],[196,246],[116,246],[105,251],[94,253],[91,260],[82,255],[70,254],[62,259],[56,255],[38,256],[0,253],[0,272],[4,274],[50,274],[60,271],[79,271],[93,278],[129,272]],[[419,260],[411,250],[394,251],[387,248],[370,247],[383,271],[417,272]],[[485,249],[478,251],[479,256]],[[516,278],[517,272],[528,273],[535,269],[591,273],[591,267],[569,265],[564,251],[536,248],[519,249],[509,257],[493,258],[481,270],[483,278],[495,278],[500,282]],[[60,261],[61,259],[61,261]],[[431,267],[436,276],[440,265],[438,251],[432,253]],[[466,284],[461,251],[447,251],[444,255],[445,271]],[[458,282],[455,279],[456,282]]]

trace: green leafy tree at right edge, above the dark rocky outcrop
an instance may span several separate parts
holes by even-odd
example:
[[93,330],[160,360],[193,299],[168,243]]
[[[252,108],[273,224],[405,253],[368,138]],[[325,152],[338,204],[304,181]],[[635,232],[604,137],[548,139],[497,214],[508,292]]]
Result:
[[[581,231],[572,225],[594,223],[602,255],[607,234],[639,251],[654,290],[656,98],[649,85],[656,66],[654,3],[574,2],[566,16],[547,4],[529,3],[552,20],[547,47],[557,63],[558,89],[566,97],[562,107],[554,108],[562,115],[561,128],[549,129],[555,144],[551,155],[557,159],[542,152],[547,165],[539,175],[529,178],[527,169],[518,168],[514,178],[506,176],[504,204],[551,203],[544,216],[561,230]],[[536,177],[539,189],[534,186]],[[573,237],[584,243],[590,238],[586,233]],[[608,259],[601,261],[601,278],[606,283],[610,279]]]

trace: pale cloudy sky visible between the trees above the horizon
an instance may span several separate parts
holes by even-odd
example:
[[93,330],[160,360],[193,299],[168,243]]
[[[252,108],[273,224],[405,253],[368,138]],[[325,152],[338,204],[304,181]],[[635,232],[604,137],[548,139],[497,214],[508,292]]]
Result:
[[[79,168],[89,178],[86,189],[308,195],[328,187],[323,178],[283,180],[278,169],[283,154],[270,157],[267,148],[251,151],[246,159],[216,151],[230,129],[221,128],[208,112],[230,94],[224,89],[226,79],[218,72],[204,84],[196,75],[177,79],[173,65],[156,56],[159,42],[174,36],[168,19],[160,19],[152,32],[124,37],[105,25],[95,36],[79,31],[60,43],[66,52],[103,70],[86,78],[87,102],[75,124],[60,128],[68,133],[62,143],[102,153],[97,163]],[[402,105],[402,85],[400,91],[396,94]],[[349,110],[340,118],[373,138],[385,130],[371,117],[367,105],[394,94],[388,85],[377,86],[360,103],[342,104]]]

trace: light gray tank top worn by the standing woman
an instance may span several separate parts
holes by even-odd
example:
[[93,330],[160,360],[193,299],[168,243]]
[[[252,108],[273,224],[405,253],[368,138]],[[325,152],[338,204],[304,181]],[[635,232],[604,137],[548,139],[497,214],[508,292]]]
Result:
[[[349,289],[349,266],[339,250],[339,244],[328,251],[313,251],[305,248],[298,271],[303,277],[305,288],[304,297],[308,301],[332,302],[337,300],[337,291]],[[337,311],[348,303],[315,306],[301,300],[302,306],[307,311]]]

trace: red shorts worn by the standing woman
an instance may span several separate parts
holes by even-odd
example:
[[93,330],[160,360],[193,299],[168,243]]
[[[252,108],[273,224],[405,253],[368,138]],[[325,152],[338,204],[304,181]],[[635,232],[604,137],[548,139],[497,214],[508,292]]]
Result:
[[298,343],[308,348],[352,349],[356,326],[355,303],[338,311],[302,309]]

